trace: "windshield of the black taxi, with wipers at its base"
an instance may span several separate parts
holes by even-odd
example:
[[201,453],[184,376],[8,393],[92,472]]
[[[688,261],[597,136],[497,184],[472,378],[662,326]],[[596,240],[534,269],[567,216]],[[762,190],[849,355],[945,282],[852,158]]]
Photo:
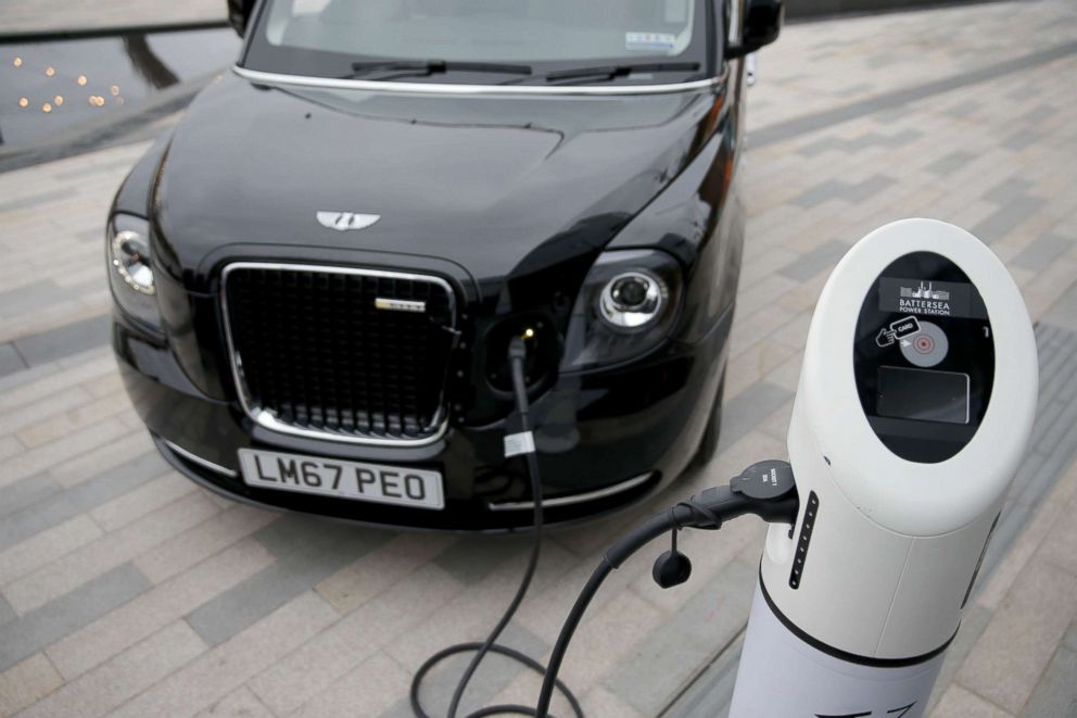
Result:
[[[708,22],[706,0],[269,0],[241,64],[401,81],[681,81],[710,70]],[[562,72],[581,68],[594,72]]]

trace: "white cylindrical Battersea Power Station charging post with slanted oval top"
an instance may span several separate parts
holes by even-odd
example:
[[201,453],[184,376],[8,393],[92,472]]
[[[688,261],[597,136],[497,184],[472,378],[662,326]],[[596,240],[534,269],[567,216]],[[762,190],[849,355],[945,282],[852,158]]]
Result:
[[1013,279],[968,232],[904,219],[838,263],[789,426],[732,718],[921,716],[1032,427]]

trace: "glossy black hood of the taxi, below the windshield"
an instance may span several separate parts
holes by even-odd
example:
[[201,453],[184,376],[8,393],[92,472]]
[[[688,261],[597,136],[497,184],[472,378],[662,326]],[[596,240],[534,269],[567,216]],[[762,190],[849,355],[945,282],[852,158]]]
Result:
[[[608,242],[698,150],[712,102],[286,89],[223,76],[175,131],[155,219],[186,269],[207,270],[223,245],[270,243],[435,256],[498,279]],[[381,218],[339,231],[319,211]]]

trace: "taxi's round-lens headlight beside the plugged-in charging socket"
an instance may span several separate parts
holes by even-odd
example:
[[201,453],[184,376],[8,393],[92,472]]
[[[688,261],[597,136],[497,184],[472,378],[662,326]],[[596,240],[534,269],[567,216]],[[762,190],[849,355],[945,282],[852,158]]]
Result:
[[561,370],[633,358],[669,335],[681,298],[681,269],[659,250],[601,254],[580,289]]

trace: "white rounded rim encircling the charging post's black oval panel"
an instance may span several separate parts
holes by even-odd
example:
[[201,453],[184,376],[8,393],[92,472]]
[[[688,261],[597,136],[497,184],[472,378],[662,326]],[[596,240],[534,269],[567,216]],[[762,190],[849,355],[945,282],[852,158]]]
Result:
[[[858,310],[880,273],[914,252],[940,254],[967,275],[983,297],[994,348],[979,427],[955,455],[937,463],[909,461],[883,443],[853,378]],[[833,481],[865,517],[897,533],[929,537],[970,524],[1006,490],[1032,428],[1037,392],[1031,323],[1002,262],[964,229],[902,219],[858,242],[823,288],[804,350],[799,418],[829,461]]]

